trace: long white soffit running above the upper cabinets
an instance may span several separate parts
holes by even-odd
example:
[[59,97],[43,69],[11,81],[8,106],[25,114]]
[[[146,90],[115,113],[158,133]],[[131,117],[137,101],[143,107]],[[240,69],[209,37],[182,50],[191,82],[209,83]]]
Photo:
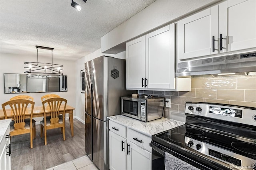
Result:
[[[101,38],[102,52],[220,0],[157,0]],[[115,47],[111,51],[118,51]],[[120,51],[118,51],[120,52]]]

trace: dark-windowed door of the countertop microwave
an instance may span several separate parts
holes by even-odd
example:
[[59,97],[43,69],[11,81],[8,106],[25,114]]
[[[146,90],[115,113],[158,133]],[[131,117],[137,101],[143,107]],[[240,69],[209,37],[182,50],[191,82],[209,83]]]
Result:
[[121,97],[122,114],[140,118],[140,99]]

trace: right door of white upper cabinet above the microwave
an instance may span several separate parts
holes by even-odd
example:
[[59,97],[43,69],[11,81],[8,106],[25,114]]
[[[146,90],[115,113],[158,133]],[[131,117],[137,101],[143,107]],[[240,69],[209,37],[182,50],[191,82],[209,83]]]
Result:
[[175,89],[175,26],[146,35],[146,77],[151,89]]

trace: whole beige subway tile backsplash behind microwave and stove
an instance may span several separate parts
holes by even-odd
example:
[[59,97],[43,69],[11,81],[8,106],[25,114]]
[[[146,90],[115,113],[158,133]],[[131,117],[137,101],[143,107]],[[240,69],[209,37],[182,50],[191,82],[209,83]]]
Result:
[[256,76],[202,77],[191,79],[191,91],[141,91],[157,97],[171,98],[171,108],[164,117],[185,121],[185,103],[208,102],[256,107]]

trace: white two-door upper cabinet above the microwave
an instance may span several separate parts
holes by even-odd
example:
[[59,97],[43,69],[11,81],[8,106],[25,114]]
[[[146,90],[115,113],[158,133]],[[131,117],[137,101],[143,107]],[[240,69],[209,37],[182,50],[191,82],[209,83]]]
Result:
[[190,79],[175,78],[174,43],[175,24],[127,42],[126,88],[190,91]]

